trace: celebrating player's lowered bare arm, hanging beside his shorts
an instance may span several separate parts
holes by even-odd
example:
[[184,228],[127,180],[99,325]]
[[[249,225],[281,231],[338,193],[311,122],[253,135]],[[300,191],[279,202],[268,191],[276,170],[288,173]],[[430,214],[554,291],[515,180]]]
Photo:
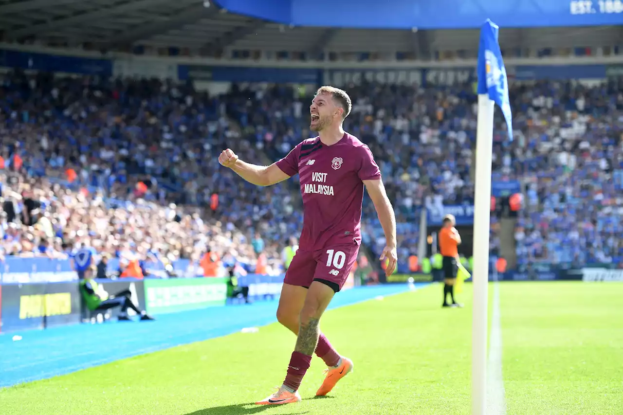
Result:
[[385,191],[383,180],[364,180],[363,184],[365,184],[370,199],[372,199],[372,203],[374,203],[376,214],[379,216],[379,222],[381,222],[381,226],[385,232],[387,246],[383,249],[383,254],[381,254],[380,259],[389,259],[389,264],[385,269],[385,274],[389,276],[394,272],[394,269],[396,269],[396,263],[398,262],[398,254],[396,252],[396,216],[394,215],[394,208],[391,206],[388,194]]

